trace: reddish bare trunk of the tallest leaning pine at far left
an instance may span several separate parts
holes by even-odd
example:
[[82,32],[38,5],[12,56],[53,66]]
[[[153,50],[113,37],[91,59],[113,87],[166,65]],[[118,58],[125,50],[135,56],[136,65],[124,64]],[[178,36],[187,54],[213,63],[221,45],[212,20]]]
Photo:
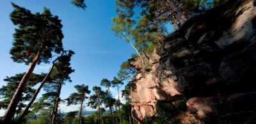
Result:
[[17,90],[13,94],[12,100],[10,101],[10,104],[8,105],[6,113],[4,114],[2,123],[12,123],[12,118],[15,114],[17,104],[19,103],[19,100],[22,96],[22,92],[23,92],[24,88],[26,87],[26,83],[28,81],[29,76],[34,71],[37,62],[40,59],[40,56],[41,56],[41,53],[43,52],[43,50],[44,50],[44,46],[42,46],[42,48],[36,53],[36,56],[33,59],[33,62],[31,63],[28,71],[26,72],[26,74],[24,74],[23,78],[21,79],[19,86],[17,87]]

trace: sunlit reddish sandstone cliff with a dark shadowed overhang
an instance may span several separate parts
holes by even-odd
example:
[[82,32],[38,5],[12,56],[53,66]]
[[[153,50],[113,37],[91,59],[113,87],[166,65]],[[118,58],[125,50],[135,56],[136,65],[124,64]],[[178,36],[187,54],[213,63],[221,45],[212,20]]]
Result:
[[[159,100],[175,107],[175,100],[186,97],[188,111],[195,109],[202,118],[216,111],[211,105],[214,100],[223,101],[223,106],[233,106],[235,99],[252,101],[256,90],[255,6],[253,0],[223,4],[191,18],[165,38],[161,47],[147,55],[149,60],[144,58],[146,67],[140,58],[131,60],[137,70],[131,92],[133,117],[142,122],[145,116],[157,116]],[[237,93],[245,95],[234,97]],[[255,103],[250,111],[256,111]],[[243,111],[244,104],[234,106],[228,109],[238,113],[239,106]]]

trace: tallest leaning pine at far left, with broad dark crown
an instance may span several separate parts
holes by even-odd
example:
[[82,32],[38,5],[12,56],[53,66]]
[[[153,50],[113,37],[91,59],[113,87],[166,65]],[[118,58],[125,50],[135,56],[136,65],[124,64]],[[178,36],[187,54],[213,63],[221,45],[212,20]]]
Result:
[[30,67],[21,79],[3,116],[2,123],[12,123],[17,104],[36,64],[49,63],[49,59],[52,57],[51,52],[60,53],[63,51],[62,25],[57,16],[53,16],[47,8],[44,9],[43,13],[33,14],[14,3],[12,6],[14,10],[10,14],[10,19],[18,28],[13,34],[11,58],[14,62],[30,64]]

